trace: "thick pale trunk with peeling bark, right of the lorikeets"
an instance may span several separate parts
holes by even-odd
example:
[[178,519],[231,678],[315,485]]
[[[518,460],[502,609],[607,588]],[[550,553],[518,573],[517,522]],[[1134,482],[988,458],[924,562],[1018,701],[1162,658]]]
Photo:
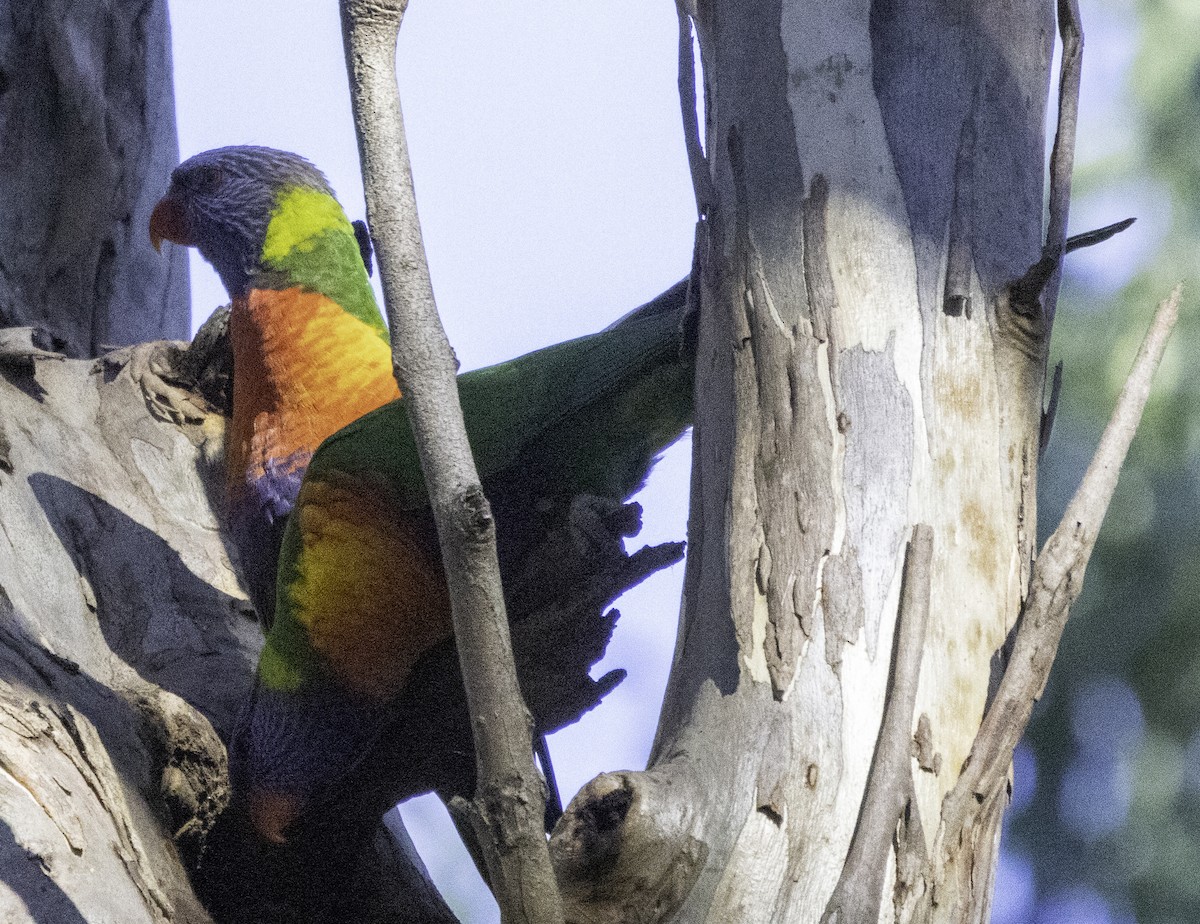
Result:
[[[984,922],[1003,786],[926,851],[1036,551],[1045,331],[1010,294],[1042,254],[1051,10],[694,13],[710,191],[680,632],[650,767],[599,778],[556,833],[568,917]],[[918,524],[928,625],[900,606]]]

